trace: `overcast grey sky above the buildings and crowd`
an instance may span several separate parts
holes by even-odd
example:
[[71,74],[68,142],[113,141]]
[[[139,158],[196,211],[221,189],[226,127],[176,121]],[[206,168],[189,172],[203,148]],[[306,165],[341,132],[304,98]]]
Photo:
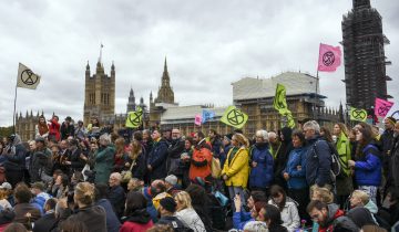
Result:
[[[389,94],[399,96],[399,1],[371,0],[391,44]],[[18,63],[42,76],[37,91],[18,88],[17,110],[83,117],[84,71],[116,67],[115,113],[157,93],[167,56],[180,105],[232,104],[232,82],[285,71],[316,73],[320,42],[338,45],[350,0],[12,0],[0,1],[0,125],[12,125]],[[345,102],[344,66],[320,73],[328,106]],[[398,103],[399,104],[399,103]]]

